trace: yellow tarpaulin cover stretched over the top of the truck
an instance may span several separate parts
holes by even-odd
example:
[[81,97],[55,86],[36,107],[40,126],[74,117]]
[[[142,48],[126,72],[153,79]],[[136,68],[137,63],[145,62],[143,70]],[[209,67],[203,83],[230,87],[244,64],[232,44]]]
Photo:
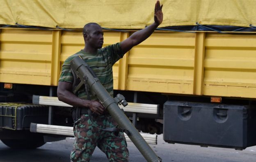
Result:
[[[142,29],[153,23],[156,0],[0,0],[0,24],[82,28],[96,22],[115,29]],[[160,27],[256,26],[256,0],[160,0]]]

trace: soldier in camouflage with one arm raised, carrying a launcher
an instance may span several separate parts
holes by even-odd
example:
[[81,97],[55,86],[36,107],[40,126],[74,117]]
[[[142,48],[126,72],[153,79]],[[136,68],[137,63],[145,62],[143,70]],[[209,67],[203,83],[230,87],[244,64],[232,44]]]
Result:
[[[104,128],[115,128],[117,123],[107,113],[98,99],[91,94],[87,94],[86,88],[81,88],[77,94],[73,94],[72,88],[75,79],[73,79],[70,68],[71,60],[80,55],[113,97],[112,66],[133,46],[148,38],[162,23],[162,20],[162,5],[157,1],[153,24],[135,32],[121,43],[104,48],[102,48],[103,30],[100,25],[88,23],[83,28],[85,47],[66,59],[62,66],[62,74],[57,89],[59,100],[74,106],[73,114],[77,115],[77,112],[79,112],[79,119],[74,124],[75,142],[71,151],[71,161],[89,162],[96,146],[106,154],[110,162],[127,162],[129,157],[124,134],[104,130]],[[92,112],[91,117],[87,110]],[[73,115],[73,118],[75,115]]]

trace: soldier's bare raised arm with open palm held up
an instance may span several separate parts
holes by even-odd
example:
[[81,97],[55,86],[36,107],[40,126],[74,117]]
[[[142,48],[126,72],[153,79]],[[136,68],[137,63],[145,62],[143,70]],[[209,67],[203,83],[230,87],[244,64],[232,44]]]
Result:
[[162,6],[160,5],[159,0],[155,3],[155,12],[154,12],[154,23],[146,27],[145,29],[139,30],[133,33],[129,38],[121,42],[121,49],[123,53],[128,52],[133,46],[138,45],[146,38],[148,38],[154,30],[162,23],[163,13]]

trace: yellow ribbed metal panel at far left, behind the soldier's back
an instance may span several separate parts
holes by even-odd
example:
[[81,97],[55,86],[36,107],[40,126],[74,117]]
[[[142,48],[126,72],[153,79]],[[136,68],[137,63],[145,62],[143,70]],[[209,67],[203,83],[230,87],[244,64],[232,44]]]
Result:
[[52,31],[2,29],[0,82],[50,85],[51,39]]

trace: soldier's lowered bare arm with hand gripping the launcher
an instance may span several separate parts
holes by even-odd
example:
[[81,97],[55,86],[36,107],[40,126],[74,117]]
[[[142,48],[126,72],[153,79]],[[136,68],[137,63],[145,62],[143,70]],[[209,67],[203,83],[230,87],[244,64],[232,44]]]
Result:
[[105,109],[99,101],[80,99],[75,94],[73,94],[72,83],[70,82],[59,81],[57,96],[59,101],[76,107],[90,108],[92,112],[95,112],[98,115],[101,115]]

